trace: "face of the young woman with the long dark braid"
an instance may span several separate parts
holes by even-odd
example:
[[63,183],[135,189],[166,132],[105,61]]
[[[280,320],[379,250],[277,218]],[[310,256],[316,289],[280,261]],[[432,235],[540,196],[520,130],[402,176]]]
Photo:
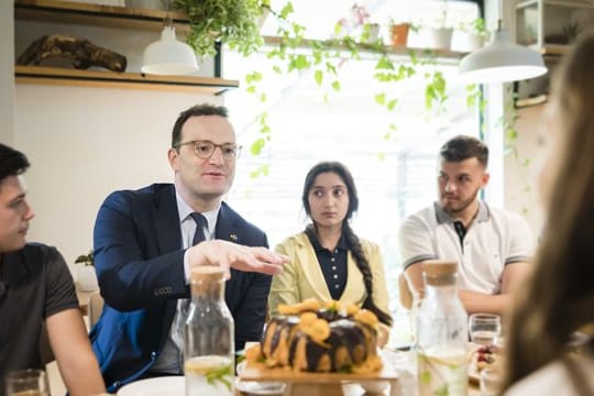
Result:
[[349,190],[339,175],[327,172],[316,176],[307,200],[317,227],[342,227],[349,211]]

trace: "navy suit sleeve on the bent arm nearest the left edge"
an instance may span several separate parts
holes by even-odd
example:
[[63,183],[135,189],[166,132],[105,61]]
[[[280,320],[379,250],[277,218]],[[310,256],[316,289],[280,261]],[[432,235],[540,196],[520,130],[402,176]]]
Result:
[[162,254],[155,228],[150,206],[143,206],[132,191],[111,194],[99,209],[95,264],[109,306],[131,311],[188,295],[184,251]]

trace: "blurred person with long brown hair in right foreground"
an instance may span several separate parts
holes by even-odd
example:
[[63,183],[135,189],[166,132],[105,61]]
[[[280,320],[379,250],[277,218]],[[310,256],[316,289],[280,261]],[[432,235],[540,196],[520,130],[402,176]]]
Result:
[[[584,331],[594,323],[594,31],[572,46],[544,112],[547,221],[512,315],[507,395],[594,394],[594,339]],[[576,332],[590,336],[578,355],[566,351]]]

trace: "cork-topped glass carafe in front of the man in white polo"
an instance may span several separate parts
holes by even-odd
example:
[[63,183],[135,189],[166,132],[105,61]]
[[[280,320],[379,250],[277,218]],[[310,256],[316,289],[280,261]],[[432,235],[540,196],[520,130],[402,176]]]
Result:
[[425,298],[417,316],[419,396],[468,394],[468,315],[458,296],[458,263],[424,264]]

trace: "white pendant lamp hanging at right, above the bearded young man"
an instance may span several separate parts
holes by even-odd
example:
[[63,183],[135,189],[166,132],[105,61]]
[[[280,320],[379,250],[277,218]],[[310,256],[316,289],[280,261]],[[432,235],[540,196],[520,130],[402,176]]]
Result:
[[460,62],[459,76],[469,84],[509,82],[547,73],[542,56],[535,50],[512,42],[509,31],[493,33],[491,43]]

